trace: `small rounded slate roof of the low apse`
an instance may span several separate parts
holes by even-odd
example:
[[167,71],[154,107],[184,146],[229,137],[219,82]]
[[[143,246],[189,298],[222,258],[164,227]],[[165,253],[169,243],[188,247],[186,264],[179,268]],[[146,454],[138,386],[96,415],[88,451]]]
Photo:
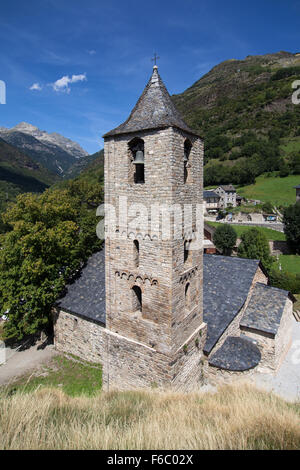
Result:
[[230,371],[243,371],[257,366],[261,354],[250,338],[229,336],[209,358],[209,365]]

